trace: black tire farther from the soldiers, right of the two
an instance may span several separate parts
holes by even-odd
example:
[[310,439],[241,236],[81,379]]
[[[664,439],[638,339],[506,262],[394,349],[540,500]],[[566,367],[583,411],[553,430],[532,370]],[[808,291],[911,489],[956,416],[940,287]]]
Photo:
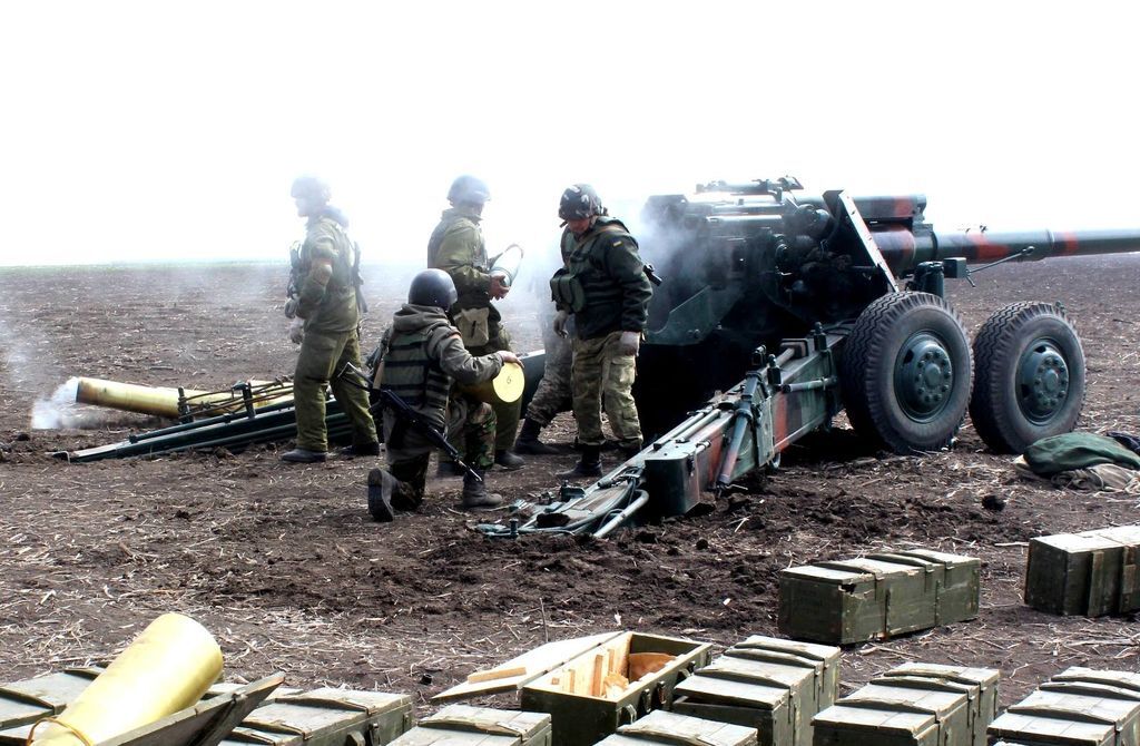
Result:
[[970,420],[997,453],[1024,453],[1035,440],[1069,432],[1084,405],[1084,350],[1065,311],[1050,303],[1010,303],[974,338]]

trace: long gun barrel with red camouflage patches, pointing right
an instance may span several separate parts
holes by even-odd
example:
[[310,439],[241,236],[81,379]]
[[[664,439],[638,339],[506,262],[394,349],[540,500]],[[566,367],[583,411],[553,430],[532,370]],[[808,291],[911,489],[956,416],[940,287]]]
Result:
[[923,261],[962,258],[968,263],[987,263],[1027,251],[1021,261],[1053,257],[1088,257],[1140,251],[1140,229],[1117,230],[1020,230],[918,234],[902,227],[873,233],[883,259],[896,275],[906,274]]

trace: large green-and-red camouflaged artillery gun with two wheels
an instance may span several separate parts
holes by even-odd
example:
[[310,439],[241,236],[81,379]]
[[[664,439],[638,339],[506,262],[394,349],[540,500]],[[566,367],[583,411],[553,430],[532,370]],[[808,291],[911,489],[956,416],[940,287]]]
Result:
[[1064,308],[1005,306],[971,348],[945,278],[1140,251],[1140,230],[943,233],[925,209],[922,195],[806,195],[788,177],[650,197],[640,238],[666,282],[634,397],[660,437],[597,483],[563,485],[556,502],[520,503],[508,526],[481,529],[603,536],[683,514],[777,464],[840,410],[861,437],[903,454],[948,446],[968,410],[999,453],[1072,430],[1085,364]]

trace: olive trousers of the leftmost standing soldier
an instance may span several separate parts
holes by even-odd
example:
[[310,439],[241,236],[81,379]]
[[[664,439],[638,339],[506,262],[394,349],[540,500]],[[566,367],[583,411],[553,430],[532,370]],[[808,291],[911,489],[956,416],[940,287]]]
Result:
[[376,443],[376,424],[368,412],[368,395],[364,389],[347,383],[341,375],[347,363],[360,367],[360,340],[355,329],[340,333],[304,333],[293,374],[298,448],[328,451],[326,386],[332,388],[333,396],[352,425],[353,445]]

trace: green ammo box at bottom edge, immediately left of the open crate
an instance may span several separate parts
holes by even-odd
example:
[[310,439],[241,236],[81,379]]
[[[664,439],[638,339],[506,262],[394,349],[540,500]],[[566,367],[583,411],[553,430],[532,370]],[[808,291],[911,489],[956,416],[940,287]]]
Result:
[[448,705],[391,746],[551,746],[546,713]]

